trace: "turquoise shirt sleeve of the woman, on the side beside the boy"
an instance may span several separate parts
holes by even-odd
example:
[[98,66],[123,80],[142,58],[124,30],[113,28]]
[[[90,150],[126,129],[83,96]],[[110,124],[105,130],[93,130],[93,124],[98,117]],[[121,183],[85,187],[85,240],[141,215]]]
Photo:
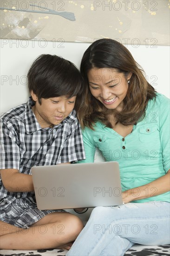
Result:
[[83,142],[85,147],[85,160],[78,161],[78,163],[94,162],[96,146],[94,145],[92,130],[90,128],[83,130]]

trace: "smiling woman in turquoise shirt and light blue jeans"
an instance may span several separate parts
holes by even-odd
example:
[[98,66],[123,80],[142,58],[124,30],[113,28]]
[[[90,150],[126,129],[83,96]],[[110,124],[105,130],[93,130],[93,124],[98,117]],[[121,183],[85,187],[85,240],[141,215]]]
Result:
[[78,109],[86,160],[118,161],[124,204],[96,207],[68,256],[122,256],[135,243],[170,241],[170,100],[146,81],[122,44],[97,40],[81,62]]

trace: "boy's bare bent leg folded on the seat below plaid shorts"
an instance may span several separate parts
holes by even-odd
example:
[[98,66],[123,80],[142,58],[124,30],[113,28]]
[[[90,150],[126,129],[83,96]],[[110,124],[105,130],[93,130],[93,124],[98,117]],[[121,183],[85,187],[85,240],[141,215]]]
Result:
[[9,233],[0,237],[0,249],[53,249],[73,242],[83,229],[83,223],[70,213],[54,212],[29,229],[10,232],[16,227],[10,225],[8,228]]

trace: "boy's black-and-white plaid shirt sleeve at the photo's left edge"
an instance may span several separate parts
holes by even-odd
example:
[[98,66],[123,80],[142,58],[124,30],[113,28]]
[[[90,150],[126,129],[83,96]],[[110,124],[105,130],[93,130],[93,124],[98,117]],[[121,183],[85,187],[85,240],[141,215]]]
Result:
[[10,123],[0,122],[0,169],[20,169],[20,148]]

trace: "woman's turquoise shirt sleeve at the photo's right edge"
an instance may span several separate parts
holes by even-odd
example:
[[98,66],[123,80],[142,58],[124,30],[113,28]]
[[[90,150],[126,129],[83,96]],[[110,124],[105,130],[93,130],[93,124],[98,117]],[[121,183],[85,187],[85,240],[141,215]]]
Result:
[[170,99],[162,95],[159,106],[160,140],[165,172],[170,169]]

